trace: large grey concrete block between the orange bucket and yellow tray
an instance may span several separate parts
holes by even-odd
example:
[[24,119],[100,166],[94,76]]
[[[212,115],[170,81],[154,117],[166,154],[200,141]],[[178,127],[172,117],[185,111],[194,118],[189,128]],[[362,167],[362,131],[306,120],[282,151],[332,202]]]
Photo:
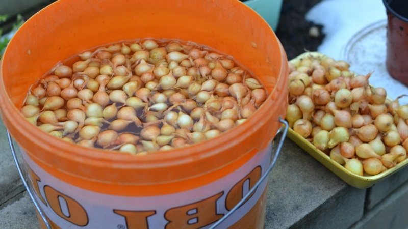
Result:
[[347,228],[362,217],[365,192],[287,139],[270,174],[265,228]]

